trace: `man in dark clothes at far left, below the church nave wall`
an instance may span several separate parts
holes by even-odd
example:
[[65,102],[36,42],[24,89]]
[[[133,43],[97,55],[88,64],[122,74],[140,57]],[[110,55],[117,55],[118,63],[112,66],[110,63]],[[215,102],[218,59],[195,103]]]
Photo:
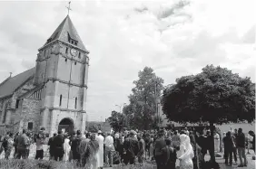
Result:
[[27,153],[26,153],[26,149],[27,149],[27,146],[29,146],[29,140],[28,140],[28,136],[26,136],[26,130],[23,129],[22,131],[22,135],[20,135],[18,137],[18,140],[17,140],[17,159],[20,159],[21,157],[23,159],[26,159],[28,156],[27,156]]

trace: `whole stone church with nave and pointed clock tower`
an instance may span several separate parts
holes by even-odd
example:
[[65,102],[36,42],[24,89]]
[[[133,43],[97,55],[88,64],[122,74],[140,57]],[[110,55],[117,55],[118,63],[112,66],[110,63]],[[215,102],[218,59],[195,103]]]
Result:
[[89,57],[69,15],[39,48],[35,67],[0,83],[0,136],[23,128],[85,130]]

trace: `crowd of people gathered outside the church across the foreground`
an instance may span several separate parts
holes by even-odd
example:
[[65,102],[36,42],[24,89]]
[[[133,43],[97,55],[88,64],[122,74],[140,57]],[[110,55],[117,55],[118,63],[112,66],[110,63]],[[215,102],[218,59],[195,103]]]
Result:
[[[242,129],[223,133],[221,136],[214,131],[214,150],[211,146],[211,132],[207,129],[196,131],[193,128],[178,130],[160,129],[158,131],[123,131],[116,133],[90,133],[80,130],[72,134],[58,131],[50,137],[44,132],[44,127],[36,135],[31,135],[25,129],[21,134],[7,133],[0,148],[0,155],[5,152],[8,159],[14,151],[14,158],[26,159],[30,147],[36,146],[34,159],[49,156],[50,160],[71,162],[85,168],[112,167],[113,164],[143,164],[155,161],[158,169],[174,169],[178,164],[180,169],[203,168],[204,156],[214,151],[224,152],[225,163],[232,165],[232,156],[237,164],[246,166],[246,147],[255,153],[255,134],[248,136]],[[177,163],[178,162],[178,163]]]

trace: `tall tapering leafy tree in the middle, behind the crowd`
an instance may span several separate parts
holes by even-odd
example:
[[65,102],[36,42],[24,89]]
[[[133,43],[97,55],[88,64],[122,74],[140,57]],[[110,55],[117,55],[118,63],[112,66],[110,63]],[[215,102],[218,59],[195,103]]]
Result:
[[163,80],[157,77],[152,68],[145,67],[134,80],[135,87],[129,96],[130,104],[123,108],[131,128],[150,129],[156,115],[156,97],[160,97]]

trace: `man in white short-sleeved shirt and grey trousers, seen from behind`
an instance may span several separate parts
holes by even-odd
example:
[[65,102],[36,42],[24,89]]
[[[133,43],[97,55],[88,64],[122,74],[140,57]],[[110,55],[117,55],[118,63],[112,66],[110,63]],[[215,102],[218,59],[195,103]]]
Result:
[[107,136],[105,137],[104,146],[105,146],[105,150],[104,150],[105,163],[108,166],[112,167],[114,146],[113,146],[113,136],[111,136],[110,133],[107,133]]

